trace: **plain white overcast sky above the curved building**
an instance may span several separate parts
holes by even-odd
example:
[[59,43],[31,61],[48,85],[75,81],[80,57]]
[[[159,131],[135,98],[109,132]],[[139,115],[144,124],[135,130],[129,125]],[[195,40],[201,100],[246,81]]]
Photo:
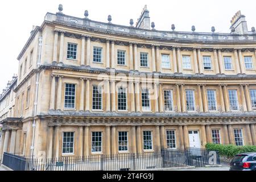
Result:
[[92,20],[129,26],[129,20],[141,15],[144,5],[150,11],[151,22],[156,30],[171,30],[174,23],[176,31],[210,32],[215,26],[216,32],[229,32],[232,16],[241,10],[246,15],[249,30],[256,27],[254,0],[8,0],[0,2],[0,93],[18,72],[18,57],[30,36],[32,25],[40,26],[47,12],[56,13],[59,4],[63,4],[63,13],[84,18],[84,10],[89,11]]

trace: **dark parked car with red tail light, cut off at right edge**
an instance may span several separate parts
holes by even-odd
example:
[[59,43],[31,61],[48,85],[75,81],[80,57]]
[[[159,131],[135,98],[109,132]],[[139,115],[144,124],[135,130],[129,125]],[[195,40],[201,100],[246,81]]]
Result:
[[229,171],[256,171],[256,152],[234,156],[230,162]]

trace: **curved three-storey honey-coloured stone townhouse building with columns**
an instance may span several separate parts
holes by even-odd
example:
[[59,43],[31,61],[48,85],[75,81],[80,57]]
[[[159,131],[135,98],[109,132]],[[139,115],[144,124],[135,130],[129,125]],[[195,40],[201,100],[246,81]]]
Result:
[[18,56],[14,115],[1,120],[1,152],[52,158],[256,144],[256,32],[244,15],[227,34],[151,29],[146,8],[135,26],[108,21],[60,11],[31,32]]

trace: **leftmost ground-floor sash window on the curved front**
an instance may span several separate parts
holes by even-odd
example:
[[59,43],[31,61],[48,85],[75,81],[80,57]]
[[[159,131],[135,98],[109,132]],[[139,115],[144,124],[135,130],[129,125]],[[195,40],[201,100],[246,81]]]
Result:
[[62,154],[74,153],[74,132],[63,132]]

